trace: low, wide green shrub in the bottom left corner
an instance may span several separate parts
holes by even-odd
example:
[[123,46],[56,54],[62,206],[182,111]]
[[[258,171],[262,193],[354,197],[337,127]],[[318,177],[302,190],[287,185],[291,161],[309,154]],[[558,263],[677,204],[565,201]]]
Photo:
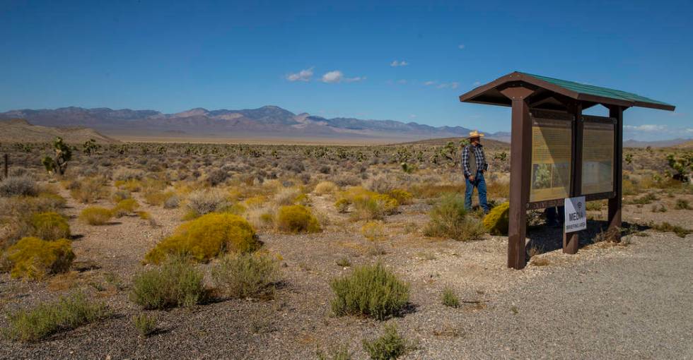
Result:
[[105,304],[86,298],[82,293],[62,296],[9,316],[5,335],[11,340],[36,341],[54,333],[72,330],[109,317]]

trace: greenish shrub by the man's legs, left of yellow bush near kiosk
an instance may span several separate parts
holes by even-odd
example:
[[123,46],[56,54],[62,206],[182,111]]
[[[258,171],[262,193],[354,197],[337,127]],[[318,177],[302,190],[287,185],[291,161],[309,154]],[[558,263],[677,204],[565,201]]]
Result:
[[465,199],[457,193],[445,193],[429,216],[431,220],[424,227],[425,236],[469,241],[481,239],[486,232],[479,220],[467,215]]

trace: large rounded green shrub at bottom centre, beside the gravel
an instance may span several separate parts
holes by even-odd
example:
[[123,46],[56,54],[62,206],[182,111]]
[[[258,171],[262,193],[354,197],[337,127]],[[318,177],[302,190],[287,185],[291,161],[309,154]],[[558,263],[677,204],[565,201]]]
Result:
[[409,301],[409,284],[397,279],[382,264],[364,265],[350,275],[332,280],[332,311],[383,320],[395,316]]

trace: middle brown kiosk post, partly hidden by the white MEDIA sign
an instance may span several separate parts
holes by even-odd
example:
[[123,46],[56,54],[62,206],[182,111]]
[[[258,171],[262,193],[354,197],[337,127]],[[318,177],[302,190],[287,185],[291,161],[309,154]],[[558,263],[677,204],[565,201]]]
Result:
[[[570,196],[572,198],[582,195],[582,145],[585,122],[582,119],[582,104],[580,102],[573,102],[569,109],[574,116],[570,185]],[[563,253],[578,253],[578,244],[580,244],[578,232],[566,233],[566,228],[563,227]]]

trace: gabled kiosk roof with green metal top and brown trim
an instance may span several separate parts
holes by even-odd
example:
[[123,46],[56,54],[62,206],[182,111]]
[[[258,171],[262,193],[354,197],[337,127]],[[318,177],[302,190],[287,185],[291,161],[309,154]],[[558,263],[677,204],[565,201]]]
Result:
[[[560,100],[563,97],[564,99],[569,98],[581,102],[584,108],[594,106],[595,104],[603,104],[605,106],[615,105],[619,107],[649,107],[670,111],[675,109],[672,104],[636,95],[632,92],[601,88],[595,85],[549,78],[548,76],[520,73],[519,71],[501,76],[490,83],[460,95],[460,101],[510,106],[511,100],[504,96],[501,90],[522,85],[523,83],[528,88],[535,90],[534,95],[532,95],[533,98],[530,97],[530,101],[535,102],[535,105],[532,106],[557,107],[560,109],[565,104],[565,100]],[[552,96],[554,99],[551,98]],[[542,102],[542,105],[537,105]]]

